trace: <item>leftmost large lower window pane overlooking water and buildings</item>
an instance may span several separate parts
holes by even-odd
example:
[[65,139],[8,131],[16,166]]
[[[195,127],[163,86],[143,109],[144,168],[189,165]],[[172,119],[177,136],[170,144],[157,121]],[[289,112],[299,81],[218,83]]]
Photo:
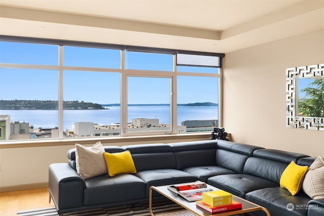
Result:
[[0,68],[0,115],[5,140],[58,138],[58,71]]

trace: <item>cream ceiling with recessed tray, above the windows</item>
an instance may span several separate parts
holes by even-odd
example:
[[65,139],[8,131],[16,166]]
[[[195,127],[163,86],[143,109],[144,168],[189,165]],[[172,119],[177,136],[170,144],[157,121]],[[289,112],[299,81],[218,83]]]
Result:
[[323,29],[324,0],[0,0],[1,35],[228,53]]

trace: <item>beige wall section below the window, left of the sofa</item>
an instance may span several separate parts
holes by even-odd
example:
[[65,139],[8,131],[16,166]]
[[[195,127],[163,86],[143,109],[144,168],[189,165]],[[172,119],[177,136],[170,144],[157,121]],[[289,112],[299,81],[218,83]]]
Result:
[[0,149],[0,187],[17,186],[19,189],[19,186],[30,185],[32,188],[34,184],[37,187],[39,183],[48,182],[49,165],[67,162],[67,151],[71,148],[73,146]]

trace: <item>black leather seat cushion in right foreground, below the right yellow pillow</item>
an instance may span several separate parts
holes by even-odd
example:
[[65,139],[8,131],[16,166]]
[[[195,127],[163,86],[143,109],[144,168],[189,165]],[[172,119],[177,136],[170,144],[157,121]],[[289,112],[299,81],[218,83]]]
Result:
[[307,202],[311,200],[303,192],[292,196],[286,188],[280,187],[252,191],[246,195],[246,199],[267,208],[271,215],[285,216],[306,216]]

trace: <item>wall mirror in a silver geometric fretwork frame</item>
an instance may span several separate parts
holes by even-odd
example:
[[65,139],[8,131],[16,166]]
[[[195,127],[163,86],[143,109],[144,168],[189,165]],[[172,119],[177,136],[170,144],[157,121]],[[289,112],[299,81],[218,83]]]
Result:
[[324,64],[286,69],[287,127],[324,131]]

